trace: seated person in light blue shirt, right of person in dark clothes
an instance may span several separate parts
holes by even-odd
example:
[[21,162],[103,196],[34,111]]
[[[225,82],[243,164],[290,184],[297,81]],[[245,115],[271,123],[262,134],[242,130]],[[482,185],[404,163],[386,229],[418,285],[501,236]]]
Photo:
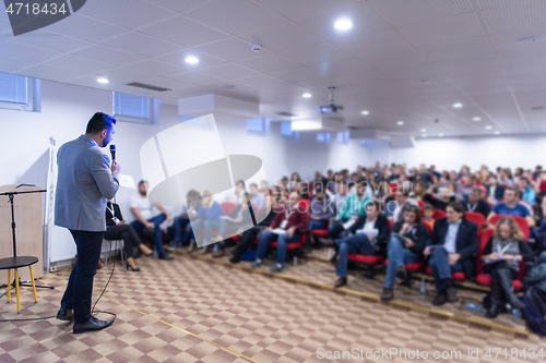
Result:
[[222,209],[218,202],[213,199],[211,192],[204,191],[201,199],[201,207],[199,208],[195,220],[192,222],[195,235],[204,232],[202,243],[203,254],[207,253],[210,250],[210,244],[213,242],[212,234],[214,231],[218,230],[222,216],[224,216],[224,209]]

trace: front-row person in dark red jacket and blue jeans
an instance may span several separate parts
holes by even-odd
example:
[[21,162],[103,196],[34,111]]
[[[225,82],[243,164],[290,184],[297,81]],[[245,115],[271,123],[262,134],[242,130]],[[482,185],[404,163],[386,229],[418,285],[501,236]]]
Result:
[[306,229],[308,222],[307,210],[299,208],[299,194],[297,192],[292,193],[284,210],[278,211],[271,226],[262,232],[256,252],[256,261],[251,267],[260,267],[263,264],[269,244],[277,241],[276,264],[270,271],[281,273],[284,267],[286,245],[300,240],[300,230]]

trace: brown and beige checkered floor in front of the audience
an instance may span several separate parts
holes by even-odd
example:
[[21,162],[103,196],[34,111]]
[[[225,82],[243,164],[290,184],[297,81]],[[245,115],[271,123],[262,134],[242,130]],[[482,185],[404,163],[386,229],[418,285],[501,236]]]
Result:
[[[138,263],[141,273],[115,271],[97,305],[118,315],[112,327],[72,335],[71,325],[57,319],[0,323],[0,362],[364,361],[320,359],[321,348],[324,352],[401,348],[430,354],[449,350],[461,351],[462,358],[444,362],[500,362],[506,360],[486,359],[486,349],[529,351],[544,346],[533,335],[523,338],[484,329],[188,256],[178,255],[174,262],[140,258]],[[322,265],[321,271],[317,266],[300,262],[286,274],[314,274],[330,283],[332,267]],[[97,294],[109,267],[97,273]],[[25,288],[19,316],[15,305],[5,304],[3,298],[0,318],[55,315],[69,273],[61,270],[41,280],[57,288],[38,291],[38,304],[33,304]],[[349,286],[369,283],[358,280],[352,279]],[[480,360],[468,359],[468,348],[479,349]],[[405,362],[394,355],[369,361]],[[519,361],[538,362],[529,356]]]

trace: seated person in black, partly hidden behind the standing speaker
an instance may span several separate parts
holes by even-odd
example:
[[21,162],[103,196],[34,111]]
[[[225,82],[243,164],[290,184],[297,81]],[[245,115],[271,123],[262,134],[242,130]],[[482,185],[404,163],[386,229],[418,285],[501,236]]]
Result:
[[111,201],[106,204],[106,232],[104,232],[104,239],[106,241],[123,240],[123,251],[127,256],[126,267],[127,269],[131,268],[132,271],[140,271],[133,259],[133,246],[139,247],[145,256],[152,255],[152,250],[142,243],[134,228],[123,221],[119,206],[111,203]]

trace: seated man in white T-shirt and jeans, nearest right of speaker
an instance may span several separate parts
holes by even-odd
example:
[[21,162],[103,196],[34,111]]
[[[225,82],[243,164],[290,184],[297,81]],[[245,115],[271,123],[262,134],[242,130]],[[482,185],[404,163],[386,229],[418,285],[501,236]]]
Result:
[[173,218],[170,214],[159,203],[152,203],[147,198],[146,181],[139,182],[139,192],[133,195],[131,199],[131,213],[135,220],[131,223],[136,233],[141,233],[144,229],[150,229],[154,232],[154,244],[157,257],[161,259],[174,259],[173,256],[167,255],[163,249],[162,229],[161,223],[165,219],[170,222]]

